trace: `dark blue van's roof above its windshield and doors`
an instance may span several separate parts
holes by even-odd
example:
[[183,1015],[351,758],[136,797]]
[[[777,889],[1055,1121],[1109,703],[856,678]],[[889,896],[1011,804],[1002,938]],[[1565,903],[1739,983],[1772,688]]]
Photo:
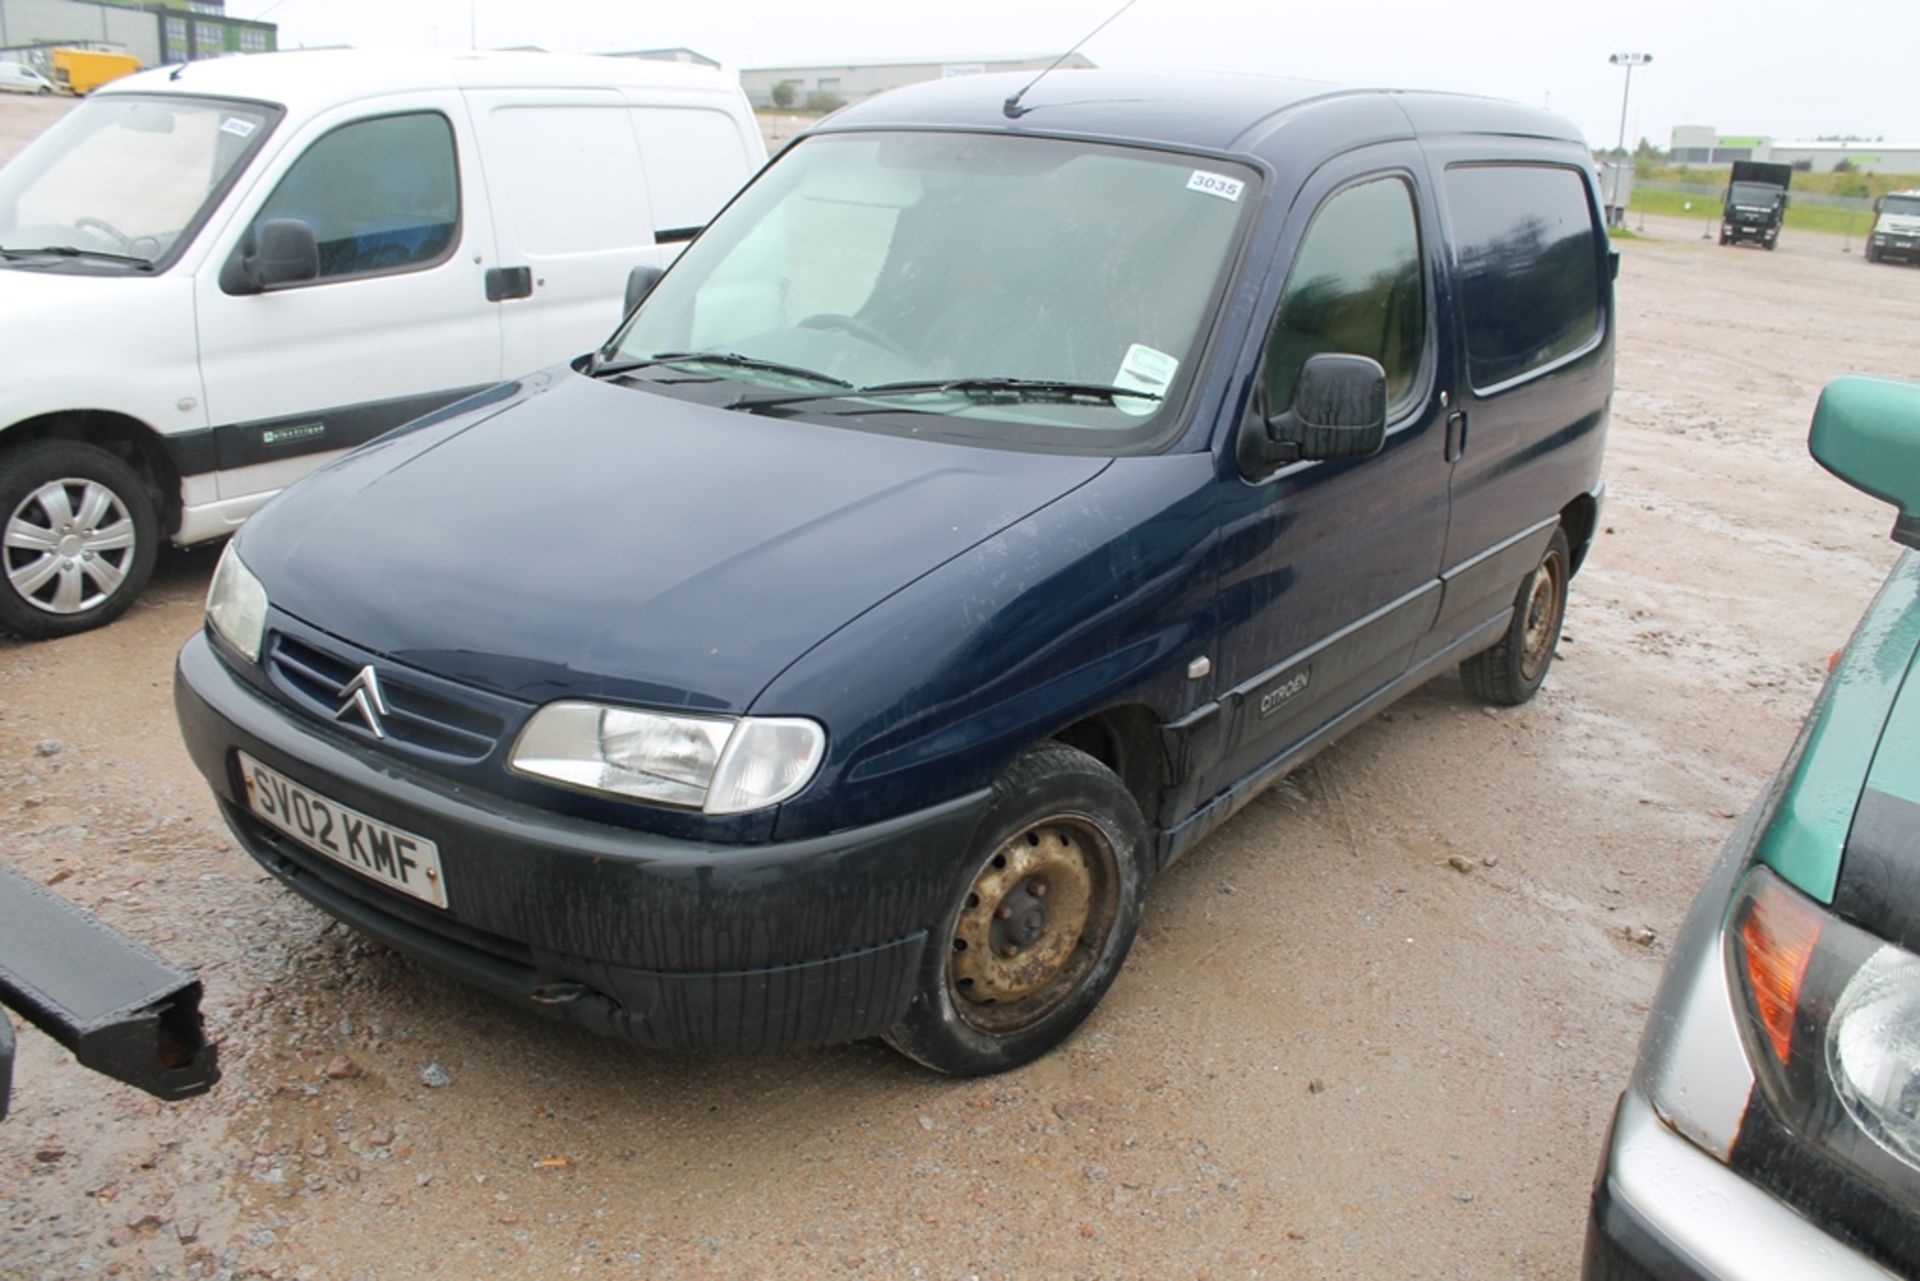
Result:
[[[1000,104],[1031,71],[966,75],[897,88],[831,115],[824,129],[968,129],[1131,138],[1212,152],[1260,152],[1283,123],[1321,115],[1365,121],[1384,136],[1505,134],[1586,146],[1572,123],[1517,102],[1394,88],[1342,88],[1321,81],[1198,71],[1062,69],[1021,98],[1010,121]],[[1392,121],[1388,125],[1388,121]],[[1329,125],[1332,121],[1329,119]],[[1286,131],[1288,136],[1294,131]]]

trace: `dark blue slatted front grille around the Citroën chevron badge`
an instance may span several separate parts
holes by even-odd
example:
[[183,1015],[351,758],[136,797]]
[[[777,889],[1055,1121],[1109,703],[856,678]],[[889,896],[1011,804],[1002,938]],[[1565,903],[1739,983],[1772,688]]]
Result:
[[288,632],[273,634],[265,663],[273,688],[294,707],[349,734],[380,741],[357,713],[340,714],[349,699],[346,688],[369,665],[378,674],[386,699],[386,714],[380,716],[384,741],[453,761],[484,761],[493,753],[507,730],[505,718],[478,705],[484,695],[468,701],[463,697],[467,691],[451,682],[392,663],[372,663],[371,655]]

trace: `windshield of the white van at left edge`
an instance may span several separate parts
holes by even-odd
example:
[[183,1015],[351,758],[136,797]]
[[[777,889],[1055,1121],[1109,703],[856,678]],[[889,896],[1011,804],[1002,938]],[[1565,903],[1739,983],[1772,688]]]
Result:
[[205,98],[88,98],[0,169],[0,250],[163,265],[273,117]]

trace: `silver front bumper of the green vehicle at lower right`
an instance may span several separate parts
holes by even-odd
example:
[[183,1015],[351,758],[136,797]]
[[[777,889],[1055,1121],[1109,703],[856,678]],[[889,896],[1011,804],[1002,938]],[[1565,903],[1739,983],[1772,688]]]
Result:
[[1891,1271],[1620,1097],[1586,1225],[1586,1281],[1887,1281]]

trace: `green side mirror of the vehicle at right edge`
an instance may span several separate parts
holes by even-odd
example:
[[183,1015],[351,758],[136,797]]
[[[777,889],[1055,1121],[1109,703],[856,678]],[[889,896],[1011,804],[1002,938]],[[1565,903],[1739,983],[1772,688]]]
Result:
[[1855,490],[1899,507],[1893,542],[1920,547],[1920,384],[1859,375],[1828,382],[1807,451]]

